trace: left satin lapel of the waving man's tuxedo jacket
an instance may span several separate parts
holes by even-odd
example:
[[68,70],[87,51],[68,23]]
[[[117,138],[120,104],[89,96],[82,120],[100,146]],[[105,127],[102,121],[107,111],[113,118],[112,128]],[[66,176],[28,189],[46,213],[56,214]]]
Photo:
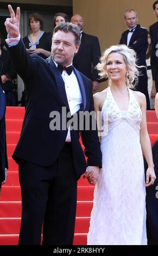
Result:
[[65,91],[65,83],[64,83],[64,80],[62,79],[62,76],[61,76],[59,70],[56,68],[56,66],[53,62],[52,56],[47,58],[47,63],[48,63],[48,65],[51,66],[50,69],[53,71],[53,74],[55,76],[56,87],[58,88],[59,95],[69,111],[69,106],[68,106],[68,101],[67,101],[67,96],[66,96],[66,91]]

